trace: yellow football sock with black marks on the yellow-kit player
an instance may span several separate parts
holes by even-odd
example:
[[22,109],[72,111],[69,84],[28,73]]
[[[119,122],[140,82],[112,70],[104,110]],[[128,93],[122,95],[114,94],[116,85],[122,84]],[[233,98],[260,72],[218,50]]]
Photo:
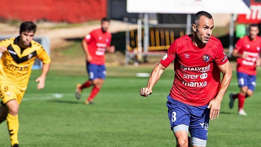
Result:
[[18,143],[18,129],[19,129],[19,121],[18,115],[13,116],[10,113],[7,114],[7,127],[11,139],[11,145],[13,146],[15,143]]

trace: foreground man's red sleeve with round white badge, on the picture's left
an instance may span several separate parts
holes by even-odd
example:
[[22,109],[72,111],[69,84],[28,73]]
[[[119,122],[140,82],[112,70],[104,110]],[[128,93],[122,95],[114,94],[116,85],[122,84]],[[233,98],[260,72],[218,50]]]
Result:
[[164,67],[168,67],[168,65],[171,64],[171,62],[176,57],[176,50],[177,50],[177,45],[176,42],[174,41],[171,44],[171,46],[168,48],[163,58],[160,60],[160,64],[162,64]]

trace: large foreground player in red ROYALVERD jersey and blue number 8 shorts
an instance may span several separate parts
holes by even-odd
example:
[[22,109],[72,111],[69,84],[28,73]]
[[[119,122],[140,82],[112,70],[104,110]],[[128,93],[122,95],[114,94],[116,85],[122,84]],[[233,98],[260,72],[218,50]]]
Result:
[[[168,95],[168,116],[178,147],[206,146],[209,119],[219,117],[221,101],[232,71],[219,39],[212,37],[214,22],[205,11],[196,13],[193,34],[176,39],[149,77],[140,95],[148,97],[164,69],[174,60],[174,82]],[[220,72],[223,74],[220,83]],[[188,139],[190,132],[190,141]]]

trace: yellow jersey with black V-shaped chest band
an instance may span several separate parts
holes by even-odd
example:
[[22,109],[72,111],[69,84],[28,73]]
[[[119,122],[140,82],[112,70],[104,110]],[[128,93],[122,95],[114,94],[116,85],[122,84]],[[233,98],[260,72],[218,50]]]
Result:
[[19,46],[19,39],[18,36],[0,41],[0,47],[7,48],[0,59],[0,84],[13,84],[21,91],[26,91],[35,59],[38,58],[45,64],[51,60],[41,44],[32,40],[23,49]]

